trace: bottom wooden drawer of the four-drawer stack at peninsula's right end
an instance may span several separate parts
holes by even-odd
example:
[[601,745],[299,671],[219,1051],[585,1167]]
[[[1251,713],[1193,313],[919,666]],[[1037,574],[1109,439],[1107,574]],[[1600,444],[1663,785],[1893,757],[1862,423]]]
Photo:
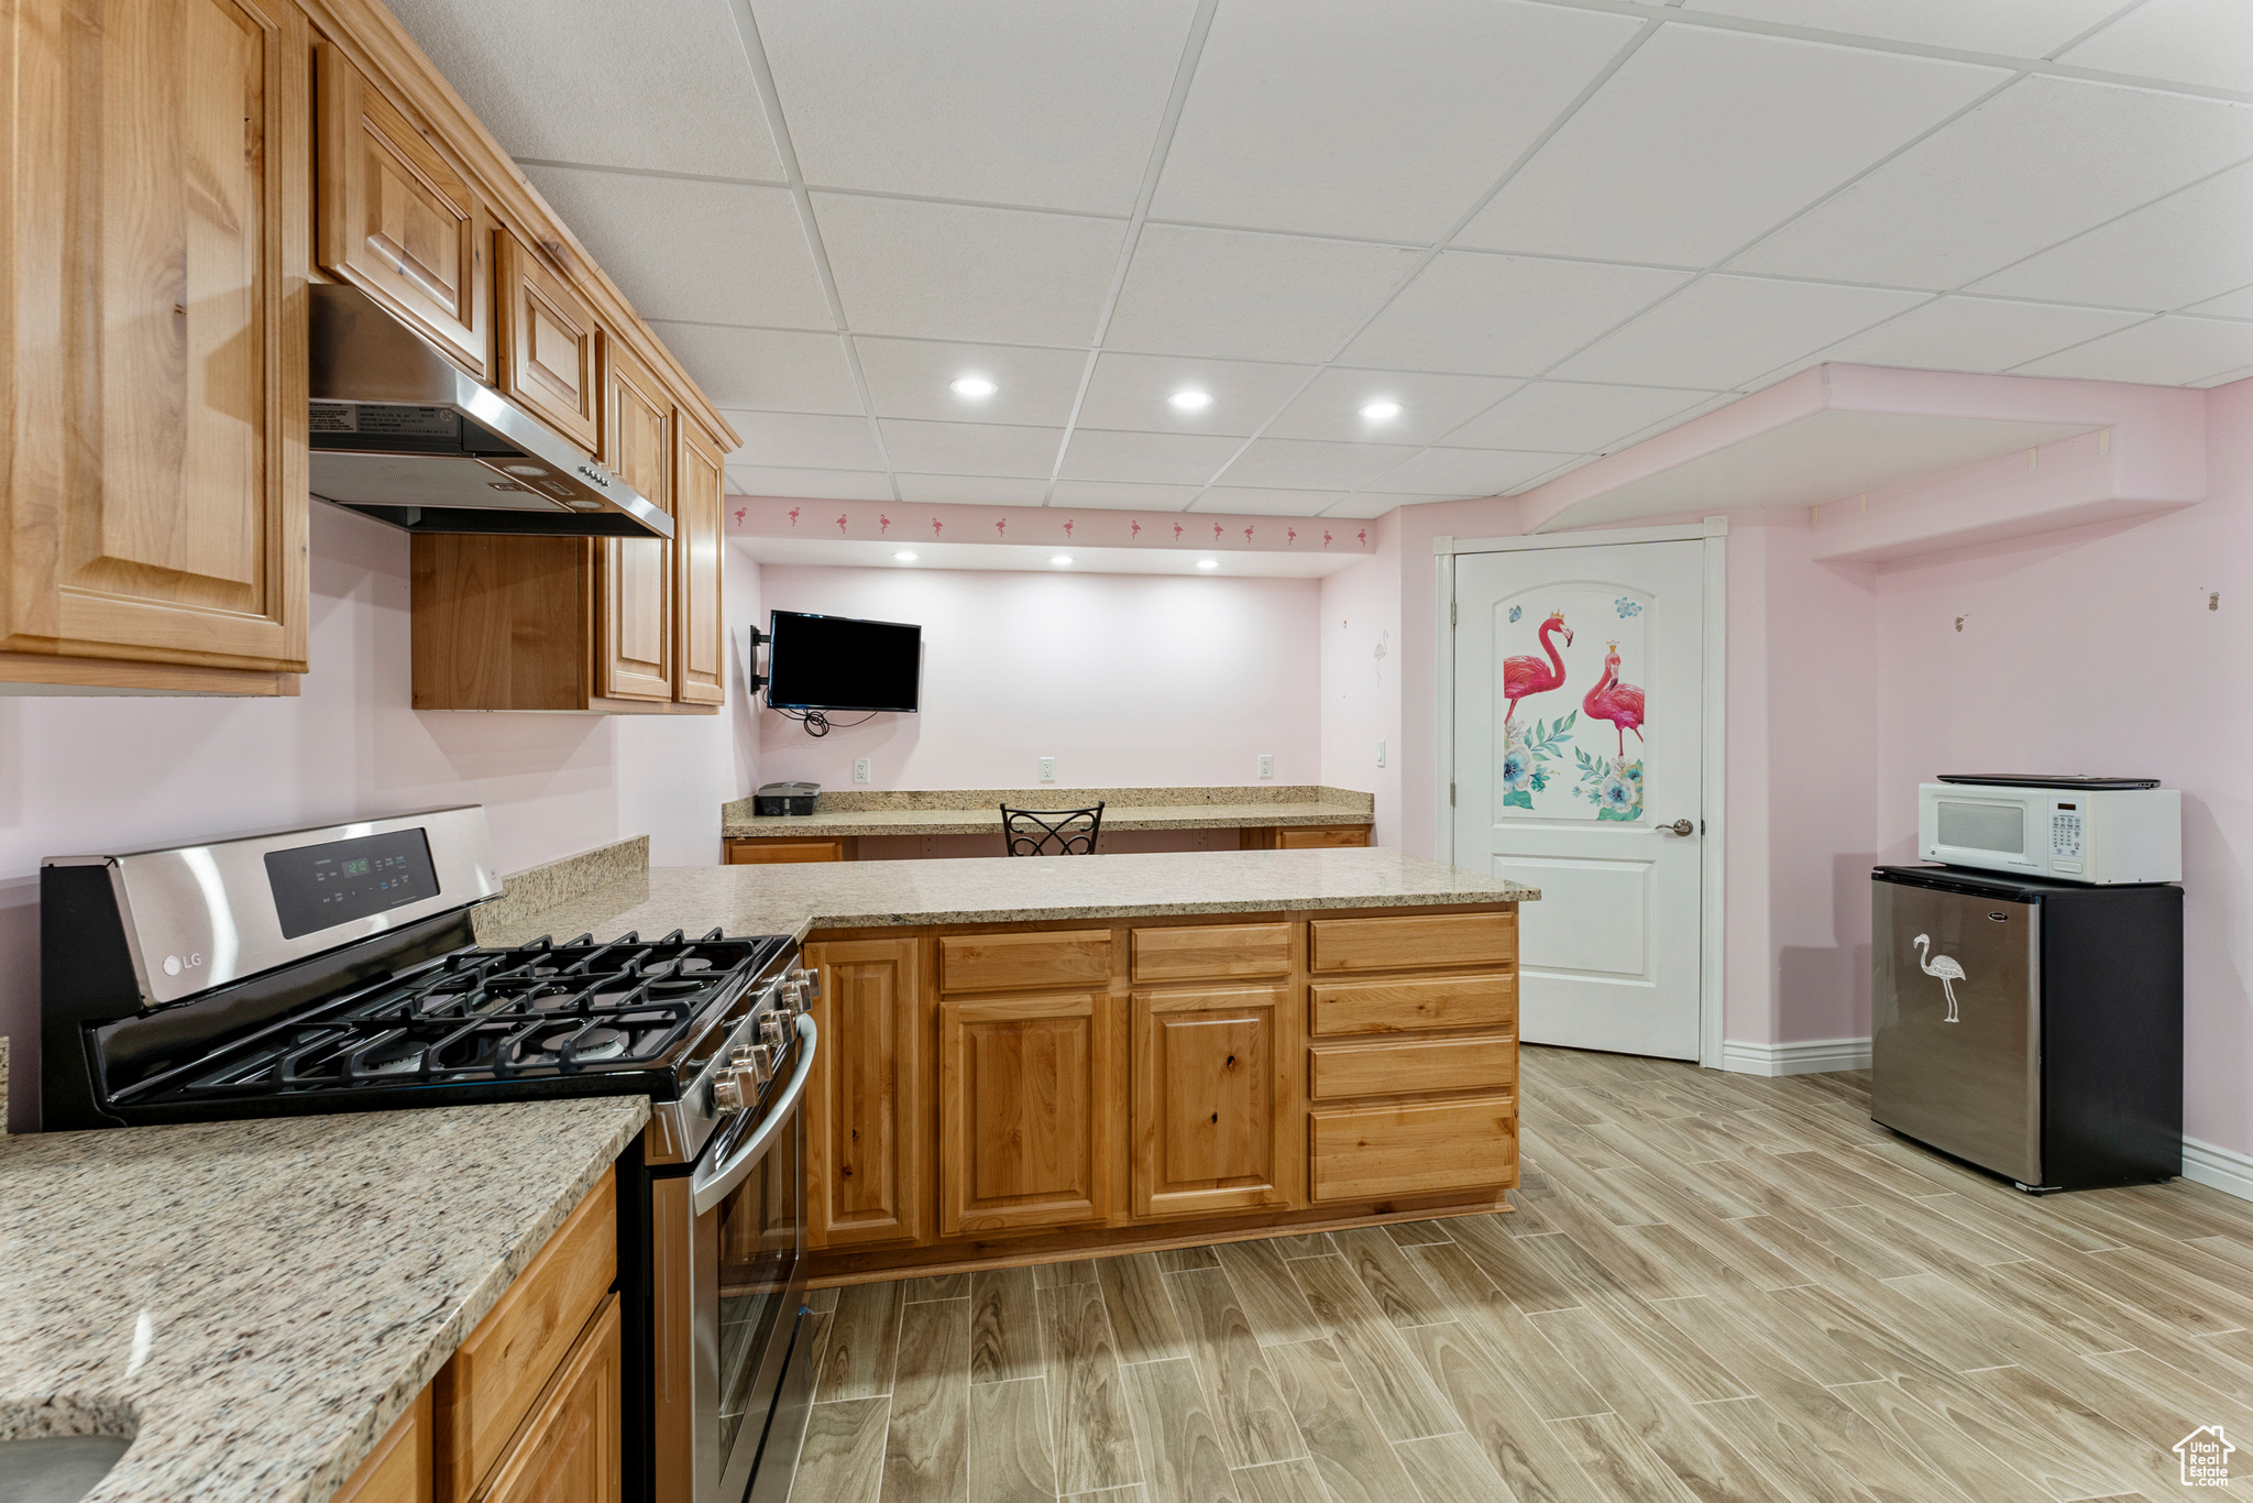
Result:
[[1510,1095],[1307,1115],[1313,1201],[1379,1201],[1519,1183],[1519,1104]]

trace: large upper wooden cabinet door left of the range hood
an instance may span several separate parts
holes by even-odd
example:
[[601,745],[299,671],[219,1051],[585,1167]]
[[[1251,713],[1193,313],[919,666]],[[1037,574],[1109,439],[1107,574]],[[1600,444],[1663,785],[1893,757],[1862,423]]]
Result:
[[306,667],[309,34],[14,0],[0,649]]

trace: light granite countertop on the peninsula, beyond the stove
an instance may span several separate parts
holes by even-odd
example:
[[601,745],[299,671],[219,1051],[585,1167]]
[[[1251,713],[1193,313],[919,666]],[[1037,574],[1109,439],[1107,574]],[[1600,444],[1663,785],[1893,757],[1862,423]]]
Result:
[[520,944],[543,933],[561,940],[588,931],[606,940],[629,928],[802,937],[816,928],[1437,908],[1539,897],[1534,888],[1386,847],[660,865],[647,879],[624,879],[538,913],[480,917],[478,940]]

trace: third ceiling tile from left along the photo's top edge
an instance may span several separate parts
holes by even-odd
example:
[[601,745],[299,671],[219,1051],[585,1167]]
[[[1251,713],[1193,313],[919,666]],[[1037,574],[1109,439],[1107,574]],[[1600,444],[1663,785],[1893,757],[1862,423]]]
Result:
[[1428,243],[1633,34],[1537,5],[1228,0],[1151,214]]

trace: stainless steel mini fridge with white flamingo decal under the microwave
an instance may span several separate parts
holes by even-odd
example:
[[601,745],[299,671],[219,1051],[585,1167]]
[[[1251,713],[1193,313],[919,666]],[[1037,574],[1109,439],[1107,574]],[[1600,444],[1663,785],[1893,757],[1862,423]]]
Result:
[[2021,1190],[2183,1170],[2183,890],[1872,872],[1870,1115]]

